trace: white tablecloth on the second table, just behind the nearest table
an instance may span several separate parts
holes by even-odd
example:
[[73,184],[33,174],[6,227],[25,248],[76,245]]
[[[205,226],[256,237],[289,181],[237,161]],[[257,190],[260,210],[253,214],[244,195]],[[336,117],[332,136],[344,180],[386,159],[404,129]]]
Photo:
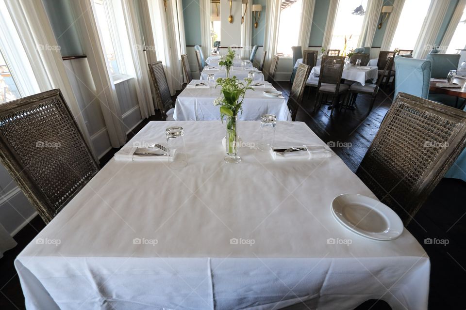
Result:
[[[193,80],[191,83],[199,83]],[[205,81],[203,81],[205,83]],[[286,99],[270,97],[264,94],[270,87],[254,87],[254,91],[246,91],[243,101],[243,113],[238,115],[240,120],[256,121],[261,115],[273,114],[279,121],[291,121],[291,114]],[[176,98],[173,118],[177,121],[213,121],[220,120],[220,108],[215,107],[214,99],[220,96],[220,89],[185,88]]]

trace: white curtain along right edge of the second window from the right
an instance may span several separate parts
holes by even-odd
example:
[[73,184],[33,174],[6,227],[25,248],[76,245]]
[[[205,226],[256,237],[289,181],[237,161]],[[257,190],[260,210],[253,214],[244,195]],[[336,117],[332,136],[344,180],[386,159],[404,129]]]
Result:
[[435,44],[435,39],[438,35],[438,30],[442,24],[449,1],[445,0],[432,0],[427,16],[422,24],[421,32],[417,38],[416,46],[414,47],[413,57],[424,59],[427,53],[432,49]]

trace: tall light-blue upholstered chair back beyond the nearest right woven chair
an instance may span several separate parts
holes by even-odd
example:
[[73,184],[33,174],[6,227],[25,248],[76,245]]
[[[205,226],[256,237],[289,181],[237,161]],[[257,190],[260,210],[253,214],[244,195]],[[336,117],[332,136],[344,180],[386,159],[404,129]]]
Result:
[[430,61],[407,57],[395,60],[395,97],[397,93],[409,93],[427,98],[430,79]]

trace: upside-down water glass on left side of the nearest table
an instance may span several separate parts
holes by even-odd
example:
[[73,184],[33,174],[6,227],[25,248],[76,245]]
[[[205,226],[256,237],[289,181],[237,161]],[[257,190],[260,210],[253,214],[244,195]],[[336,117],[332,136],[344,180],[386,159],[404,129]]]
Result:
[[182,169],[188,164],[186,156],[186,146],[184,144],[184,129],[180,126],[170,126],[165,129],[166,135],[166,148],[168,149],[168,156],[170,169]]

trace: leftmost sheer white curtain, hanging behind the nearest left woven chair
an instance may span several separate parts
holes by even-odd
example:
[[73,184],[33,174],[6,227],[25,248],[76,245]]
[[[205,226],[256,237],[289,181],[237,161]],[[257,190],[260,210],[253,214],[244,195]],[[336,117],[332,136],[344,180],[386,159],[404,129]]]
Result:
[[84,140],[95,156],[89,132],[67,77],[60,51],[57,48],[40,48],[58,47],[42,1],[5,0],[5,4],[21,38],[40,91],[60,89]]

